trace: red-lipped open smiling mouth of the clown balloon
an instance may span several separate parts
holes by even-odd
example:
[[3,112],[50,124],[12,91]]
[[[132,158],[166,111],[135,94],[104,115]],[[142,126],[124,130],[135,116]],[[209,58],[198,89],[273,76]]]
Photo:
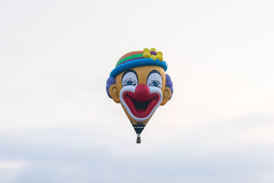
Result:
[[123,93],[123,99],[135,117],[145,118],[160,100],[160,95],[158,93],[151,93],[140,98],[135,93],[127,91]]

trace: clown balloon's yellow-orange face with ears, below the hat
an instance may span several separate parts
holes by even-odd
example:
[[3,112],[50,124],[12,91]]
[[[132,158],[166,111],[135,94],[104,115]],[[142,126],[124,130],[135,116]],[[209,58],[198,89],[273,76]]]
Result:
[[116,76],[109,93],[121,103],[132,123],[147,124],[155,110],[171,98],[166,87],[166,74],[160,66],[139,66]]

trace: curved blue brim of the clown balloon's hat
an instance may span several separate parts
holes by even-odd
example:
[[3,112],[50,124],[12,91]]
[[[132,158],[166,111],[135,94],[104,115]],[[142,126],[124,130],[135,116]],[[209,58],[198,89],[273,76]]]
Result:
[[119,75],[119,73],[122,73],[123,71],[126,71],[127,69],[132,69],[134,67],[138,66],[160,66],[164,71],[167,69],[167,64],[166,62],[160,61],[158,59],[152,60],[151,58],[140,58],[137,60],[132,60],[129,62],[125,62],[119,66],[116,66],[115,69],[112,70],[110,73],[110,77],[116,77],[116,75]]

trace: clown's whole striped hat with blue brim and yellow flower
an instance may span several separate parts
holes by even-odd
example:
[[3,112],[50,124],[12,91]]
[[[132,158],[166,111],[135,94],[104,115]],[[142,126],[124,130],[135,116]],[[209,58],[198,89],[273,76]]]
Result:
[[110,77],[116,77],[116,75],[127,69],[148,65],[160,66],[164,71],[167,69],[167,64],[162,58],[161,51],[156,51],[155,48],[145,48],[142,51],[131,51],[122,56],[118,60],[115,69],[110,73]]

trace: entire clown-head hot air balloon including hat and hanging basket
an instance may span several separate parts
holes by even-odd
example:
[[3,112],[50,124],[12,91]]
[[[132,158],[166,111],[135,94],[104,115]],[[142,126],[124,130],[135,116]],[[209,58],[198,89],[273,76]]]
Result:
[[166,69],[161,51],[143,49],[120,58],[108,78],[108,96],[121,103],[138,135],[137,143],[140,143],[140,134],[155,110],[173,94],[173,83],[165,73]]

